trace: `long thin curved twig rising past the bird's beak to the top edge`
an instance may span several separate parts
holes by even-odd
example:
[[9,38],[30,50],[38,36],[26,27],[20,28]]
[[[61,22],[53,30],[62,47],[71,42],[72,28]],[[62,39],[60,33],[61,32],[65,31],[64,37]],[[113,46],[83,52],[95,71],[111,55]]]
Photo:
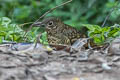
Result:
[[41,18],[43,18],[44,16],[46,16],[48,13],[52,12],[52,11],[55,10],[56,8],[61,7],[61,6],[65,5],[65,4],[67,4],[67,3],[70,3],[70,2],[72,2],[72,0],[69,0],[69,1],[67,1],[67,2],[64,2],[64,3],[58,5],[58,6],[54,7],[54,8],[51,8],[49,11],[45,12],[45,13],[44,13],[42,16],[40,16],[33,24],[30,25],[30,28],[26,31],[26,33],[23,35],[23,37],[26,36],[27,32],[30,31],[31,28],[32,28],[32,26],[33,26],[35,23],[37,23]]

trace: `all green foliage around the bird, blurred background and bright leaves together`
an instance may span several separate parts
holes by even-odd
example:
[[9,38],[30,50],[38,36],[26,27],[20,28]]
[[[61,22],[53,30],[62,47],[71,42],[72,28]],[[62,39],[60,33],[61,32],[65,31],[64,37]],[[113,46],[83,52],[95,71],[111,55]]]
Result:
[[[40,42],[47,43],[46,32],[42,28],[32,28],[24,37],[25,29],[20,24],[34,22],[49,9],[60,5],[65,0],[0,0],[0,43],[4,40],[14,42],[34,42],[40,32]],[[101,27],[106,16],[108,19]],[[47,16],[61,18],[66,24],[88,28],[88,36],[97,44],[103,44],[120,36],[120,3],[116,0],[73,0],[57,8]],[[84,25],[82,25],[84,24]],[[118,24],[118,25],[116,25]],[[114,26],[112,26],[114,25]]]

